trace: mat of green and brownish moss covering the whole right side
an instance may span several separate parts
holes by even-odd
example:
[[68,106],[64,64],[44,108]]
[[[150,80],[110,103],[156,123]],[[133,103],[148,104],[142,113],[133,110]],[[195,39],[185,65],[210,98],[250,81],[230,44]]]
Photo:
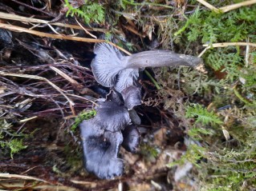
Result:
[[[217,7],[233,3],[208,2]],[[198,5],[197,9],[192,15],[184,17],[185,21],[169,20],[180,28],[174,33],[171,25],[169,30],[165,28],[164,38],[173,40],[181,50],[194,52],[198,46],[203,50],[203,43],[248,40],[256,43],[255,5],[216,14],[207,8],[201,9],[202,5],[197,1],[193,3]],[[169,38],[166,38],[168,35]],[[181,69],[179,76],[176,75],[177,70],[169,73],[166,69],[154,70],[157,82],[165,87],[163,90],[182,90],[183,94],[176,99],[179,100],[180,108],[177,109],[177,105],[173,104],[166,109],[173,109],[181,121],[187,121],[186,133],[197,145],[188,145],[186,153],[178,161],[169,164],[169,167],[187,161],[193,163],[198,190],[251,190],[256,185],[255,55],[252,46],[249,53],[246,53],[246,46],[206,50],[202,57],[208,74],[202,74],[200,78],[191,70]],[[178,81],[180,86],[177,86]],[[193,99],[193,94],[197,95],[196,99]],[[170,94],[160,95],[165,102],[170,100]],[[185,106],[188,104],[180,101],[184,95],[189,97],[188,102],[194,104]],[[198,101],[210,110],[198,104]],[[226,105],[228,107],[225,108]],[[224,133],[228,133],[230,139]]]

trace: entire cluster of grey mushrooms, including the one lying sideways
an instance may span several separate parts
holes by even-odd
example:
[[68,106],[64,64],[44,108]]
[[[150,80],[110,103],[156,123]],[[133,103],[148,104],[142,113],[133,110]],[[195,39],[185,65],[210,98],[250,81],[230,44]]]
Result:
[[124,161],[118,158],[120,146],[136,153],[140,144],[141,88],[137,82],[145,67],[190,66],[201,64],[201,58],[176,54],[169,50],[149,50],[124,56],[108,43],[95,45],[91,70],[100,85],[112,90],[98,101],[95,117],[80,126],[84,165],[88,172],[109,179],[124,173]]

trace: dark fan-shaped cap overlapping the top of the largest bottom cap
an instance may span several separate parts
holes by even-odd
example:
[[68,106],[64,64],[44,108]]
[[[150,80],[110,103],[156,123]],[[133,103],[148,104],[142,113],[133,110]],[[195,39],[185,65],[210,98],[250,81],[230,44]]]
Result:
[[114,101],[100,102],[95,110],[96,115],[91,120],[101,129],[116,132],[131,122],[128,110]]

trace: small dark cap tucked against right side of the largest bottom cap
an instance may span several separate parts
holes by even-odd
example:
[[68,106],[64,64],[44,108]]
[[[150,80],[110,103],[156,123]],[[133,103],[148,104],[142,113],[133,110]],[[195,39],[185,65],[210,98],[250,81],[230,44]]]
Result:
[[124,141],[122,146],[128,152],[136,153],[140,144],[140,132],[135,125],[128,125],[123,131]]

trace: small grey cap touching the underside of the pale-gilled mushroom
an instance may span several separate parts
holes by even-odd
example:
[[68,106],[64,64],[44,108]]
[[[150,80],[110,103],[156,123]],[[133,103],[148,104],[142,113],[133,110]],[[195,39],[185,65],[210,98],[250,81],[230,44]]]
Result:
[[141,89],[137,86],[128,86],[122,91],[124,106],[129,110],[141,104]]

